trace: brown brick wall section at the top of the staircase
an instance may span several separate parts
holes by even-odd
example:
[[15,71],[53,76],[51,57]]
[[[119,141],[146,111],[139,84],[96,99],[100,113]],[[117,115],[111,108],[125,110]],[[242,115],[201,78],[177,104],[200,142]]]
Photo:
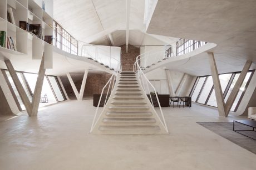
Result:
[[132,45],[128,47],[128,53],[126,53],[126,45],[121,46],[121,65],[122,71],[132,71],[136,57],[140,55],[140,49]]

